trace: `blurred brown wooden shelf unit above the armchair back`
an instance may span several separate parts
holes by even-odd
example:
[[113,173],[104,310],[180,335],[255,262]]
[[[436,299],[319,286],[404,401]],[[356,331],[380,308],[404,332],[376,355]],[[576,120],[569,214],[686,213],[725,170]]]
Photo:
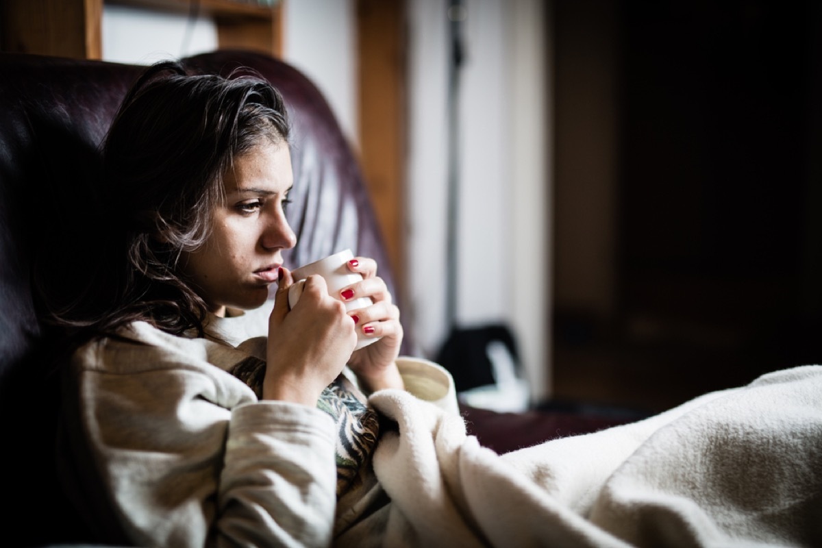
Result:
[[3,51],[70,58],[103,57],[104,4],[145,7],[158,12],[212,16],[219,48],[246,48],[279,57],[283,0],[266,6],[241,0],[2,0]]

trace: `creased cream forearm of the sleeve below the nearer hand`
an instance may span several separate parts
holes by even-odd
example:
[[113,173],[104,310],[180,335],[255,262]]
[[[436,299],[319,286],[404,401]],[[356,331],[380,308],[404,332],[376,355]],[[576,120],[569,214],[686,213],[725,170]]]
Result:
[[296,404],[234,410],[219,485],[218,546],[330,546],[335,430],[326,413]]

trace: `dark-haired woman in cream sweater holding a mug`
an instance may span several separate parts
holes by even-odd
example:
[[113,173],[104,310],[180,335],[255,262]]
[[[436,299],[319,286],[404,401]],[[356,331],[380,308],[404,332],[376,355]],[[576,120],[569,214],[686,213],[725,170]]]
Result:
[[[289,310],[288,138],[266,81],[175,62],[150,67],[115,117],[100,192],[110,251],[58,312],[83,341],[65,383],[62,476],[98,541],[380,534],[380,424],[363,392],[404,387],[399,311],[365,257],[348,264],[363,281],[342,291],[372,306],[347,312],[310,277]],[[353,352],[358,330],[380,339]]]

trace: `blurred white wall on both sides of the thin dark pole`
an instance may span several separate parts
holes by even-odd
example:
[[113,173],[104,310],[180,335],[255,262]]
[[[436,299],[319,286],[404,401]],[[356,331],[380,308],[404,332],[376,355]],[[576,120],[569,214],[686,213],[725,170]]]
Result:
[[[409,5],[409,292],[423,352],[449,333],[445,2]],[[545,2],[468,0],[459,96],[459,327],[510,325],[533,394],[550,391],[551,157]]]

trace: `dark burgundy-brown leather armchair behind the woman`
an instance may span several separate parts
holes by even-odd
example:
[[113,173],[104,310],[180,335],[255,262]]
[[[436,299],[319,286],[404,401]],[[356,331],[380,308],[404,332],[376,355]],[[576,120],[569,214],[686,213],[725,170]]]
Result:
[[[298,246],[289,267],[350,247],[372,256],[394,289],[363,178],[325,99],[299,71],[256,53],[187,58],[203,72],[252,67],[284,94],[293,122],[293,205]],[[41,320],[35,284],[71,299],[95,252],[90,182],[99,142],[142,67],[0,53],[0,435],[7,538],[18,546],[90,541],[62,495],[54,446],[59,420],[53,332]],[[396,292],[394,292],[396,294]],[[402,306],[402,303],[399,303]],[[413,353],[405,326],[404,352]],[[567,413],[519,415],[464,408],[469,431],[505,451],[615,422]]]

